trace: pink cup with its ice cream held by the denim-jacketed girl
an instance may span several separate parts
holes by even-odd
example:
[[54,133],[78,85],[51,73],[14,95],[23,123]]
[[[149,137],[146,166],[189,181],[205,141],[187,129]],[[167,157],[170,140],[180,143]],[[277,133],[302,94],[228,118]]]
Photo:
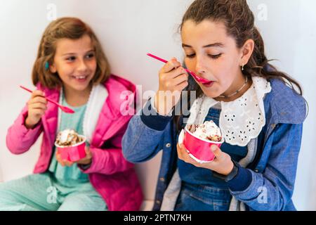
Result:
[[199,163],[213,161],[215,155],[211,151],[211,146],[216,145],[220,148],[224,143],[220,129],[213,121],[206,121],[204,124],[187,124],[181,131],[180,141],[183,142],[190,157]]

